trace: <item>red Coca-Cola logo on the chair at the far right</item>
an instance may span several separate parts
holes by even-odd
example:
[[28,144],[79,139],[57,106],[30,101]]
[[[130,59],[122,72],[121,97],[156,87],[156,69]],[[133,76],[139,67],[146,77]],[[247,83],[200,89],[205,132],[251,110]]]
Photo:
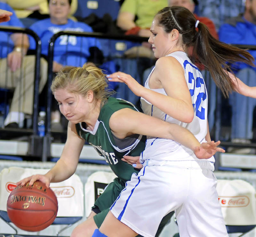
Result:
[[250,203],[247,196],[219,197],[221,207],[246,207]]

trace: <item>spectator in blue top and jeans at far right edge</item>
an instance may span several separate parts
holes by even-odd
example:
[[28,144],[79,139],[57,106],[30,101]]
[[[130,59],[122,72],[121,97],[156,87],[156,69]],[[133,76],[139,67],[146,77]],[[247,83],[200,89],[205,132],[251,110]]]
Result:
[[[246,0],[244,13],[221,25],[219,38],[220,41],[228,44],[256,45],[255,32],[256,0]],[[255,59],[256,50],[249,50],[249,52]],[[242,82],[248,86],[256,86],[255,67],[244,63],[236,63],[232,65],[232,69]],[[232,106],[231,139],[234,142],[248,143],[253,135],[252,120],[256,100],[234,92],[231,94],[229,101]]]

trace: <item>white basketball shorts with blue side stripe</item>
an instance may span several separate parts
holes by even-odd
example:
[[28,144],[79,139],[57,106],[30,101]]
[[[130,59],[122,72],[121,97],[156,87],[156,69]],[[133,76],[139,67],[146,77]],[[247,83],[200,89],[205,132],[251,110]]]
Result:
[[154,237],[173,210],[181,237],[228,237],[216,184],[209,169],[145,166],[132,175],[110,210],[145,237]]

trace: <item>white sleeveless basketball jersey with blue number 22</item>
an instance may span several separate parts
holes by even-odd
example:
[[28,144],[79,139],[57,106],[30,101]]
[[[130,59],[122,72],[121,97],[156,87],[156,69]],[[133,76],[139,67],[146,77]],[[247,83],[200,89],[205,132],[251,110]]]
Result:
[[[165,114],[156,106],[152,105],[141,97],[140,102],[142,110],[147,115],[157,117],[166,122],[176,123],[184,128],[187,128],[195,135],[200,143],[205,142],[205,136],[207,133],[208,98],[203,76],[199,69],[191,62],[185,52],[177,51],[167,56],[172,56],[177,59],[184,68],[184,75],[194,107],[194,119],[191,123],[180,122],[179,120]],[[150,89],[148,86],[148,81],[154,69],[155,67],[152,69],[145,83],[145,87],[148,89]],[[167,95],[164,89],[150,90]],[[148,137],[146,148],[140,156],[140,162],[145,162],[149,158],[151,164],[157,164],[157,161],[200,161],[196,158],[193,151],[185,146],[182,146],[173,140],[155,137]],[[210,159],[207,159],[207,161],[214,162],[214,157],[212,156]]]

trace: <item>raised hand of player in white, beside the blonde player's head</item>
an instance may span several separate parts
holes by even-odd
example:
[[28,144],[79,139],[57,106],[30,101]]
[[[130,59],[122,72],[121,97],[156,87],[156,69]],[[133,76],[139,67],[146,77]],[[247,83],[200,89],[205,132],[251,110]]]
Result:
[[124,82],[137,96],[141,96],[141,92],[145,90],[145,87],[140,85],[131,75],[123,72],[115,72],[107,75],[107,78],[110,82]]

